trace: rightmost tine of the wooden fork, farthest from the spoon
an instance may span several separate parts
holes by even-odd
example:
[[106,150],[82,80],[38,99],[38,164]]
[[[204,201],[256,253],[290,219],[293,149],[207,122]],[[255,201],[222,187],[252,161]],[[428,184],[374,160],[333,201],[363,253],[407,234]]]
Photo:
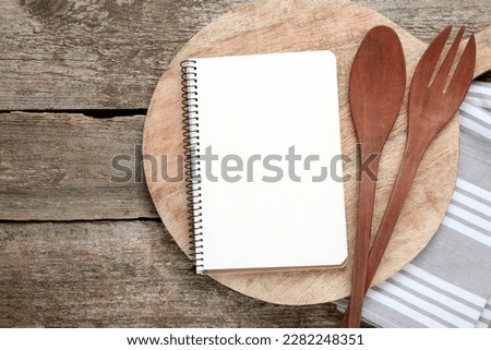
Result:
[[[462,53],[460,61],[457,64],[454,76],[448,85],[446,94],[453,100],[462,100],[467,94],[469,85],[474,77],[476,67],[476,37],[472,34],[467,41],[466,48]],[[464,84],[468,82],[468,84]],[[458,106],[457,106],[458,108]]]

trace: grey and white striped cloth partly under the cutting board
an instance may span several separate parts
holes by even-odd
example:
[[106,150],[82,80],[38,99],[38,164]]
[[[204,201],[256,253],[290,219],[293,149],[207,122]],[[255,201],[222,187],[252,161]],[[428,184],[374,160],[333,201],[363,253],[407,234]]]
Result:
[[491,327],[490,83],[474,82],[460,107],[458,179],[442,225],[411,263],[369,290],[362,316],[378,327]]

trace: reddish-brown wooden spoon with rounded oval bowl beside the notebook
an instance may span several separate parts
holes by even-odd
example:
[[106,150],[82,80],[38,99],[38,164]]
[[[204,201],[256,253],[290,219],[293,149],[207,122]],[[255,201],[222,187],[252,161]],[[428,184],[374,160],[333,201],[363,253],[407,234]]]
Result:
[[345,318],[349,317],[348,327],[360,325],[380,154],[405,92],[406,61],[399,37],[387,26],[373,27],[360,44],[349,76],[349,105],[362,166],[351,299],[349,314],[345,314]]

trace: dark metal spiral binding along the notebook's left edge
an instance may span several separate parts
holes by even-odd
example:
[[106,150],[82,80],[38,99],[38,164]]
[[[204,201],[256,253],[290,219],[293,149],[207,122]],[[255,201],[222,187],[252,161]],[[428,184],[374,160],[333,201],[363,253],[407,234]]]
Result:
[[191,256],[196,271],[204,268],[203,258],[203,220],[200,177],[200,131],[197,114],[197,74],[196,61],[181,62],[182,76],[182,121],[184,136],[184,174],[188,197],[188,225],[190,244],[194,248]]

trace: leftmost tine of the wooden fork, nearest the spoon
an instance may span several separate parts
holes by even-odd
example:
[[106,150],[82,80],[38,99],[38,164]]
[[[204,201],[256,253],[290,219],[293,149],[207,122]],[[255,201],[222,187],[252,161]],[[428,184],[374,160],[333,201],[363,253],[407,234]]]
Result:
[[[428,82],[430,84],[436,63],[445,47],[448,35],[452,32],[452,25],[444,28],[428,46],[424,53],[421,56],[418,65],[416,67],[412,82]],[[424,63],[424,64],[422,64]],[[411,83],[412,86],[412,83]]]

